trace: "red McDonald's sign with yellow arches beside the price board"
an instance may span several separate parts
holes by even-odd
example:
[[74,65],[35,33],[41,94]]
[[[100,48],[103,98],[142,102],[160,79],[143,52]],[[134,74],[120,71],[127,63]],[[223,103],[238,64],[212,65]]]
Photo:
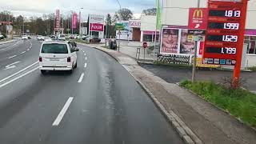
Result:
[[207,8],[190,8],[189,29],[205,30],[207,27]]

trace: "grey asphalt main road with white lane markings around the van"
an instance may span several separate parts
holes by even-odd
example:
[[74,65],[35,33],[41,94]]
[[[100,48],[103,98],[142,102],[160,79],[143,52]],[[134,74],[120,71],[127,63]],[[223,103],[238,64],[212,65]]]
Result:
[[33,39],[0,45],[1,144],[182,143],[145,91],[109,55],[78,46],[73,74],[42,75],[40,45]]

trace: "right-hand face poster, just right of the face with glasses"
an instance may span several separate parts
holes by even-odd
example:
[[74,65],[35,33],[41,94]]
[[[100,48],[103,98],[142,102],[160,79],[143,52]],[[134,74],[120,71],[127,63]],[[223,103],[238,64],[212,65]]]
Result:
[[180,54],[194,54],[195,42],[188,38],[188,30],[182,30],[180,41]]

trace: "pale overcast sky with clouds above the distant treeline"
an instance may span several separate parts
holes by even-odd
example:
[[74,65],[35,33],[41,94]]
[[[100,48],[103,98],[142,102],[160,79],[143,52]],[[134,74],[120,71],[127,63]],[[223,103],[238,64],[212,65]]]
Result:
[[[134,14],[140,14],[142,10],[155,7],[155,0],[119,0],[121,6],[129,8]],[[87,14],[114,14],[119,9],[117,0],[0,0],[0,10],[11,10],[17,16],[42,16],[42,14],[54,13],[56,9],[62,14],[70,14],[70,11],[78,13],[80,8],[82,16]],[[84,19],[84,18],[83,18]]]

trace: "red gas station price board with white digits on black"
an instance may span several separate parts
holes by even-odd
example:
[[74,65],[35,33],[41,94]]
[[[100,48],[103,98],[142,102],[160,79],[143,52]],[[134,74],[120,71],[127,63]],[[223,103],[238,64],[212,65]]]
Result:
[[243,12],[242,1],[209,0],[206,42],[203,50],[204,63],[235,65],[241,35]]

